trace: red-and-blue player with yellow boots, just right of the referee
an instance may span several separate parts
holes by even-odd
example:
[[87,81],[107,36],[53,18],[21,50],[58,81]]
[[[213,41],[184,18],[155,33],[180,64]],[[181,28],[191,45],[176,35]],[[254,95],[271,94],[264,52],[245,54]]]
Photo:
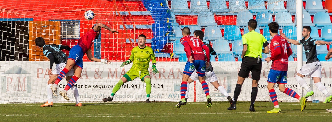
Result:
[[268,75],[268,90],[270,92],[270,98],[274,104],[272,110],[267,111],[267,113],[280,113],[281,109],[279,107],[276,91],[274,86],[277,83],[280,92],[287,94],[292,98],[296,98],[300,101],[301,111],[304,110],[306,104],[306,98],[299,96],[292,89],[286,88],[287,84],[287,70],[288,70],[288,57],[292,54],[290,49],[290,44],[286,39],[278,35],[279,24],[277,22],[271,22],[268,24],[270,28],[270,34],[273,37],[270,43],[271,57],[265,59],[265,61],[272,62],[271,69]]

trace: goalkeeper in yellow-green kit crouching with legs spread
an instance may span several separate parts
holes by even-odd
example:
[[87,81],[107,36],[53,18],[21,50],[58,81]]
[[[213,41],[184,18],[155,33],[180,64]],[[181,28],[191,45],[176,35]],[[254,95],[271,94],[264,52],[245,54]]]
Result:
[[151,79],[149,71],[150,59],[152,60],[152,72],[159,73],[156,68],[156,57],[154,56],[153,50],[145,45],[146,36],[141,34],[138,36],[138,46],[131,50],[131,55],[129,59],[123,62],[120,67],[124,67],[131,62],[133,62],[132,67],[127,71],[124,76],[119,80],[119,82],[114,86],[112,94],[110,97],[104,98],[104,102],[112,102],[113,96],[120,90],[121,85],[128,81],[132,81],[139,77],[142,82],[146,83],[146,102],[150,103],[149,97],[151,93]]

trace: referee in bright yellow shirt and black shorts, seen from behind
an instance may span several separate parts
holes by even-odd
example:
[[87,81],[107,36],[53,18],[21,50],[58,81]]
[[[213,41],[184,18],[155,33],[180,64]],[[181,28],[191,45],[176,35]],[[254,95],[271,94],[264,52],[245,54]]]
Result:
[[266,54],[270,53],[267,40],[262,34],[255,31],[256,27],[257,21],[254,19],[249,20],[249,32],[242,36],[243,50],[241,58],[243,60],[237,76],[237,83],[234,90],[234,102],[227,108],[227,110],[236,110],[236,101],[240,95],[243,81],[249,76],[249,72],[251,71],[252,91],[249,111],[255,111],[254,103],[257,97],[257,85],[262,71],[262,52]]

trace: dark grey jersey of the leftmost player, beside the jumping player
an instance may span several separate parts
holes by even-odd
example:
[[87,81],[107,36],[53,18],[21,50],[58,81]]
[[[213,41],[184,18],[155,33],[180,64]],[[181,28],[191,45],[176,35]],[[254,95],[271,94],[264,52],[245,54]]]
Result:
[[49,58],[48,57],[49,54],[52,54],[54,56],[55,64],[67,62],[68,56],[60,50],[60,47],[61,45],[56,45],[56,44],[45,45],[42,49],[43,54],[47,58]]

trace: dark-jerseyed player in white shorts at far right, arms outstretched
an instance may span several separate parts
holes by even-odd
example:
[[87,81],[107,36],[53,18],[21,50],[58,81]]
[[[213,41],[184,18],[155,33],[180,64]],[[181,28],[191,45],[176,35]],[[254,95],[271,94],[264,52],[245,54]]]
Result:
[[297,75],[295,76],[296,81],[303,87],[306,91],[307,94],[304,96],[305,98],[308,98],[309,96],[312,96],[314,93],[310,88],[308,87],[307,83],[303,79],[303,77],[309,75],[314,83],[315,86],[321,91],[323,94],[326,95],[325,102],[323,103],[329,103],[332,99],[332,96],[330,93],[327,91],[326,87],[321,84],[321,70],[322,70],[322,64],[317,58],[316,54],[316,45],[325,45],[328,44],[330,45],[331,42],[325,42],[325,41],[317,41],[313,38],[310,37],[311,33],[311,27],[310,26],[304,26],[302,30],[302,36],[304,37],[300,41],[292,40],[289,39],[285,36],[284,33],[280,32],[280,35],[283,36],[287,41],[294,45],[299,45],[302,44],[305,50],[305,56],[307,58],[306,64],[304,64],[300,70],[297,72]]

